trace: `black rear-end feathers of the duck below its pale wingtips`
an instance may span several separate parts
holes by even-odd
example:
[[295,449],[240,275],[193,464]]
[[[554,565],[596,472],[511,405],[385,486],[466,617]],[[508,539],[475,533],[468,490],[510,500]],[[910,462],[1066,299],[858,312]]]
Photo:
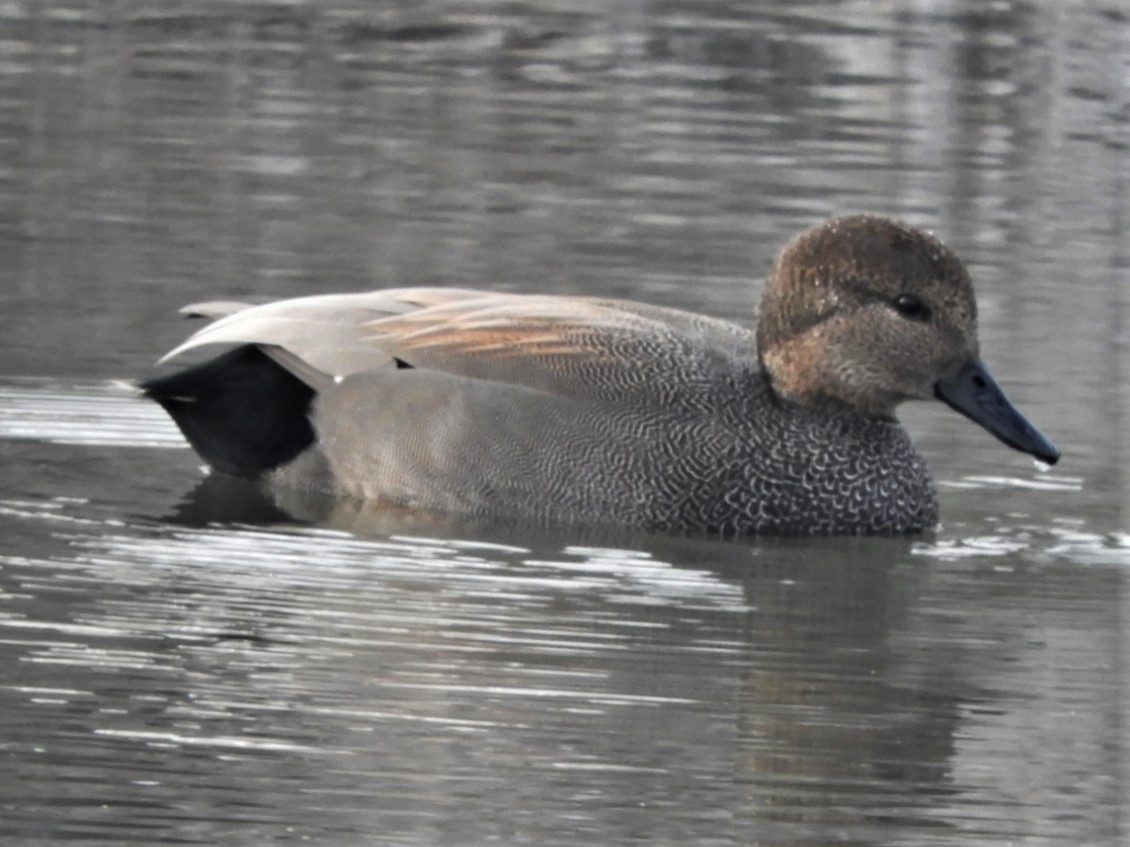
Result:
[[255,479],[314,442],[314,390],[253,344],[141,384],[215,470]]

